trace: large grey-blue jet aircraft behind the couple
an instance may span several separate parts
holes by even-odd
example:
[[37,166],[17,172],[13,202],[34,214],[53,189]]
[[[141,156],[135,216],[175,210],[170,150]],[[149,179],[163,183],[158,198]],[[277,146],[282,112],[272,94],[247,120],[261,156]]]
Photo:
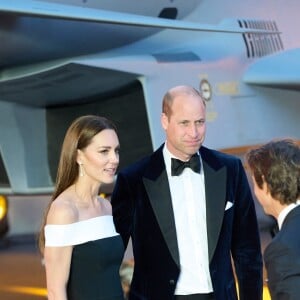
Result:
[[164,141],[161,100],[199,89],[205,145],[300,140],[296,0],[1,0],[0,192],[51,192],[65,130],[113,119],[121,166]]

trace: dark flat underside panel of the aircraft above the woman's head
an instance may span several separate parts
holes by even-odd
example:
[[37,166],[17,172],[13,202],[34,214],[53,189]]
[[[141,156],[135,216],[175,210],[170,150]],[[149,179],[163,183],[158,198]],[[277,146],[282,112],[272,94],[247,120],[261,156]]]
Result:
[[[0,81],[1,98],[32,107],[77,104],[82,99],[105,95],[131,84],[139,74],[113,69],[112,65],[95,65],[80,59],[67,60],[37,72]],[[138,63],[138,58],[135,58]],[[101,79],[101,80],[99,80]]]

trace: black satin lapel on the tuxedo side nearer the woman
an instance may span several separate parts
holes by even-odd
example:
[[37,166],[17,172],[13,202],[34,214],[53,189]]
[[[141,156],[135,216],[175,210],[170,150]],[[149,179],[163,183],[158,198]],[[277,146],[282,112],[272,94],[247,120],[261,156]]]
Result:
[[169,251],[179,266],[175,219],[167,173],[164,170],[157,179],[143,178],[143,182]]

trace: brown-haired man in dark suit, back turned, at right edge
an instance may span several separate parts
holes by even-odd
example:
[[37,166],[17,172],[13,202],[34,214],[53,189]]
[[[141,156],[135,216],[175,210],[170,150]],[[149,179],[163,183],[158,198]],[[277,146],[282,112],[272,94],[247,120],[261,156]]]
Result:
[[247,154],[254,192],[279,232],[264,252],[272,300],[300,299],[300,148],[271,141]]

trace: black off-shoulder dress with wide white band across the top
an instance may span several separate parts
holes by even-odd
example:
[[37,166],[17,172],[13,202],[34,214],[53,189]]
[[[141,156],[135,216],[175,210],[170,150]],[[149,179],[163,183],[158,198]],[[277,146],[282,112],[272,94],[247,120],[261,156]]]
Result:
[[73,246],[68,300],[123,300],[119,269],[124,246],[112,216],[46,225],[46,247]]

